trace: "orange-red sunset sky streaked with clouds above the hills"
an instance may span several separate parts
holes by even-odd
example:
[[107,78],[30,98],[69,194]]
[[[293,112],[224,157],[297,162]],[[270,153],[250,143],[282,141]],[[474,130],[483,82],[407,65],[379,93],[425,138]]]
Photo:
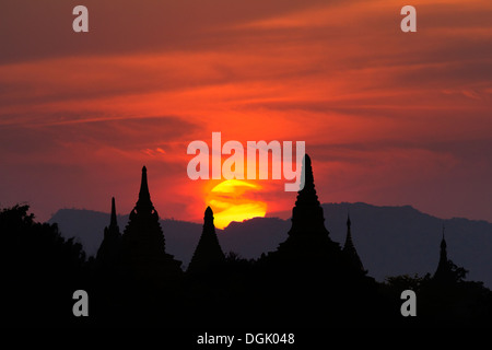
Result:
[[284,180],[188,178],[220,131],[305,141],[321,202],[492,221],[490,0],[3,0],[0,47],[0,207],[127,214],[145,165],[162,218],[285,215]]

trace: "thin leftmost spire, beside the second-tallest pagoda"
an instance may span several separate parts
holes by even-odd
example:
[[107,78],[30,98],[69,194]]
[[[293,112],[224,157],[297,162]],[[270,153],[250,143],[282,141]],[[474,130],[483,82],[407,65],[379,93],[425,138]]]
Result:
[[121,234],[116,219],[115,197],[112,198],[112,214],[109,226],[104,229],[104,238],[97,249],[97,266],[104,270],[114,270],[118,266]]

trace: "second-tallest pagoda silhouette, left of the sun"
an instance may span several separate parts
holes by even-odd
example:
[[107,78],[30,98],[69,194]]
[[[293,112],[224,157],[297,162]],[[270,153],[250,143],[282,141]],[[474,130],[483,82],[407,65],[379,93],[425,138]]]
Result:
[[164,234],[151,201],[145,166],[142,168],[139,199],[121,238],[124,265],[132,273],[160,278],[181,271],[181,262],[165,253]]

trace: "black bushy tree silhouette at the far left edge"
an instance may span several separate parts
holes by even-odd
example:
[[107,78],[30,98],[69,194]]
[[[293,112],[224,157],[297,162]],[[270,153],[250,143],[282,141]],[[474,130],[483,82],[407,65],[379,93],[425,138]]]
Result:
[[56,224],[35,222],[28,209],[0,212],[2,324],[73,324],[72,294],[89,287],[82,245],[63,238]]

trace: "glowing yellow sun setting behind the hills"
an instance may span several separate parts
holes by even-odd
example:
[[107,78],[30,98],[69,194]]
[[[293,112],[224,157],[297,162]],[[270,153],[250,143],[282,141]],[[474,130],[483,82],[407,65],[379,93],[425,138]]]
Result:
[[223,229],[232,221],[265,217],[267,203],[256,199],[261,186],[250,182],[227,179],[209,192],[207,202],[213,210],[214,223]]

